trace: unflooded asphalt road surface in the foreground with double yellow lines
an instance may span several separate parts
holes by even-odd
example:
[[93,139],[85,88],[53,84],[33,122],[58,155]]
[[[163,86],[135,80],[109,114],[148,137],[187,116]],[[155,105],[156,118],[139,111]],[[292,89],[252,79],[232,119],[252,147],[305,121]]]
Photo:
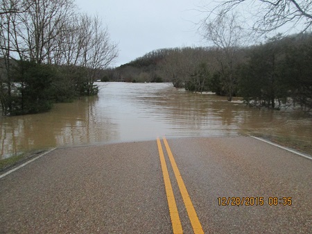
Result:
[[312,233],[312,160],[252,137],[59,148],[0,178],[0,233]]

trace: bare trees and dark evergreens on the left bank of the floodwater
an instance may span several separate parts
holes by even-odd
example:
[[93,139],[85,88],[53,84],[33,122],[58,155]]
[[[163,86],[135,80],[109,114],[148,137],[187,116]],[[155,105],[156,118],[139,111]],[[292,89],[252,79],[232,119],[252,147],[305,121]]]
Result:
[[2,115],[96,94],[94,80],[118,56],[101,19],[73,0],[1,0],[0,18]]

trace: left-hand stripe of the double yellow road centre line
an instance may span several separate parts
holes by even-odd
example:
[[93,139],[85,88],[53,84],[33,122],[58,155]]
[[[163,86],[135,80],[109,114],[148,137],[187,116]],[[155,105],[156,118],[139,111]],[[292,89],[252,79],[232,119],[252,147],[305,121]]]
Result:
[[175,197],[173,195],[173,189],[171,186],[171,181],[166,165],[166,160],[164,158],[164,152],[162,151],[162,143],[159,138],[157,138],[157,146],[159,151],[160,164],[162,165],[162,175],[164,176],[164,184],[166,188],[167,200],[169,213],[171,218],[171,224],[174,234],[182,234],[182,224],[179,217],[179,212],[177,212],[177,204],[175,203]]

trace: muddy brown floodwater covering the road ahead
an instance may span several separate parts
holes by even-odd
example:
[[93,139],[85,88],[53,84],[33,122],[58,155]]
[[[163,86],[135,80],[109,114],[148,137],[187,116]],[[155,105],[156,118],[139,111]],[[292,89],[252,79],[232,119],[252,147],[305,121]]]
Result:
[[168,83],[98,83],[98,97],[50,112],[0,117],[0,158],[50,147],[155,140],[157,136],[289,136],[312,142],[312,119],[259,110]]

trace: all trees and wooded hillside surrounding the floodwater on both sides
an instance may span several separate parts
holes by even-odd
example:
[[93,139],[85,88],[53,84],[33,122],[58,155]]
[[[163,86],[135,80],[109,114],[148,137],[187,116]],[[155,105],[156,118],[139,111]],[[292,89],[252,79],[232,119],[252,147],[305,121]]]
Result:
[[[50,110],[53,103],[98,93],[95,81],[171,82],[252,106],[312,110],[311,2],[264,1],[244,28],[235,9],[247,0],[202,8],[198,32],[209,47],[156,49],[112,68],[117,44],[97,16],[73,0],[0,0],[2,115]],[[246,20],[246,19],[245,19]],[[275,33],[293,23],[300,33]],[[266,40],[259,41],[259,36]]]

